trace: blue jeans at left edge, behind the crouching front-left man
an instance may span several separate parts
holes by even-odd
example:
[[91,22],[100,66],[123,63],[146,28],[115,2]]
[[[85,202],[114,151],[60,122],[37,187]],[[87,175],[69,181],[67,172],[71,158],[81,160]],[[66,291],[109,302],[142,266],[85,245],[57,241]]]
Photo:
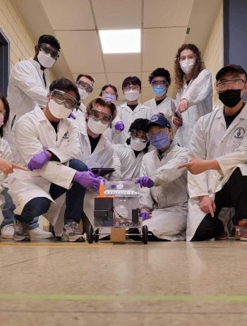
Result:
[[[4,189],[2,195],[4,195],[5,203],[2,210],[4,215],[4,220],[1,223],[0,229],[8,224],[13,224],[13,219],[15,218],[15,214],[13,211],[16,209],[15,205],[13,205],[13,200],[11,196],[8,195],[8,188]],[[37,217],[37,215],[32,219],[32,222],[30,224],[30,229],[36,229],[37,227],[39,227],[39,224],[37,223],[38,219],[39,217]]]

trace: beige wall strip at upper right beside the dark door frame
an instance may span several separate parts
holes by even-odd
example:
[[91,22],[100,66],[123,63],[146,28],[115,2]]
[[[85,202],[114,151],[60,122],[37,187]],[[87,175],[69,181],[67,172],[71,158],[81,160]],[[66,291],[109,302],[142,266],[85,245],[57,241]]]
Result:
[[223,6],[219,8],[215,23],[212,25],[210,37],[203,53],[203,60],[206,68],[212,73],[213,107],[217,107],[218,96],[215,90],[215,75],[223,66]]

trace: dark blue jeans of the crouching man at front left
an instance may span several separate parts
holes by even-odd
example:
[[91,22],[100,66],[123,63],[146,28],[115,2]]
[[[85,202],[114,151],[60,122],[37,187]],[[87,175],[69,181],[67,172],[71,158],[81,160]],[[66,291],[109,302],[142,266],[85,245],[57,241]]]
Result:
[[[88,171],[88,167],[79,159],[71,159],[68,166],[77,171]],[[70,189],[57,186],[55,183],[51,184],[49,194],[53,200],[59,198],[63,193],[66,193],[64,223],[68,221],[75,221],[77,223],[80,222],[83,214],[83,200],[85,191],[86,189],[83,186],[80,186],[80,184],[77,182],[73,182]],[[26,203],[21,215],[15,215],[15,218],[20,222],[31,222],[33,217],[40,216],[48,212],[51,203],[51,200],[46,197],[33,198]]]

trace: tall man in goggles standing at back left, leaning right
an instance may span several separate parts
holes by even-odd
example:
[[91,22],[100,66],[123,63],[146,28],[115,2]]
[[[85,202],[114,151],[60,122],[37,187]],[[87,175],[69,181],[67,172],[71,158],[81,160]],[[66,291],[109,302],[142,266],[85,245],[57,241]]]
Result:
[[[49,92],[49,68],[59,58],[60,44],[52,35],[40,36],[35,45],[35,57],[33,59],[18,62],[11,71],[8,81],[7,99],[10,107],[10,116],[6,125],[4,138],[11,145],[13,162],[16,161],[16,146],[14,140],[15,123],[20,116],[35,109],[38,104],[45,107],[47,93]],[[4,222],[8,223],[8,233],[3,230],[1,236],[12,238],[13,236],[13,203],[8,193],[5,193]],[[30,225],[30,233],[33,239],[52,238],[51,232],[40,229],[38,217],[35,217]]]

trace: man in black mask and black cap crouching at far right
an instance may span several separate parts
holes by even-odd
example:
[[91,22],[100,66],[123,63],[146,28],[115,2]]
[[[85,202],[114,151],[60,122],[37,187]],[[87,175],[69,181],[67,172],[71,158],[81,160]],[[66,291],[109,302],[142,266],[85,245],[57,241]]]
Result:
[[220,109],[195,124],[188,149],[187,240],[227,239],[219,219],[223,207],[234,207],[237,236],[247,240],[247,73],[229,65],[216,75]]

